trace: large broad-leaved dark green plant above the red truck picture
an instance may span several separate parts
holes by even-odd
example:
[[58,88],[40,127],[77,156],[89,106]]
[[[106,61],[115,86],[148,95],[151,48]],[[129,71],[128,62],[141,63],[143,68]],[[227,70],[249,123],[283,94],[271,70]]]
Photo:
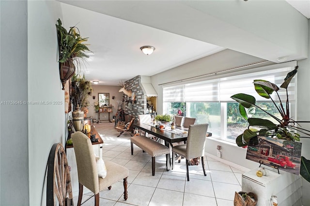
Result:
[[[246,129],[242,134],[240,134],[236,138],[236,144],[239,147],[244,146],[253,146],[258,143],[258,136],[268,136],[279,139],[286,139],[289,141],[299,141],[300,138],[310,138],[310,131],[303,129],[299,126],[299,123],[310,123],[310,121],[294,121],[290,117],[290,108],[289,108],[289,98],[288,98],[288,85],[290,84],[292,78],[297,73],[298,66],[291,72],[289,72],[280,88],[286,89],[286,100],[283,101],[279,98],[279,103],[276,103],[271,94],[276,92],[279,97],[279,87],[265,80],[254,80],[254,87],[256,92],[266,98],[271,99],[274,103],[274,106],[279,111],[281,118],[277,118],[274,115],[270,114],[268,111],[259,107],[256,104],[255,97],[248,94],[235,94],[231,98],[239,103],[239,112],[241,116],[248,121],[248,129]],[[251,115],[255,113],[255,109],[262,110],[269,117],[275,119],[278,123],[275,124],[268,119],[263,118],[250,118]],[[260,130],[255,129],[261,128]],[[305,134],[306,136],[300,136],[300,132]],[[300,165],[300,175],[304,177],[308,182],[310,182],[310,160],[307,160],[305,157],[301,157],[301,165]]]

